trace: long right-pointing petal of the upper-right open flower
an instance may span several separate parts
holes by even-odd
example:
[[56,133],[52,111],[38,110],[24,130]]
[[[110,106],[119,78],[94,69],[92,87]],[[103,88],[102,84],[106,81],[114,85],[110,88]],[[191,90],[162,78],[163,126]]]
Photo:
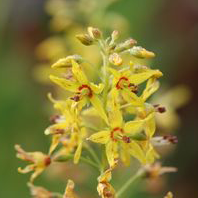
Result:
[[160,72],[159,70],[148,70],[146,72],[131,75],[129,80],[131,83],[138,85],[149,79],[151,76],[156,76],[157,78],[159,78],[160,76],[162,76],[162,72]]

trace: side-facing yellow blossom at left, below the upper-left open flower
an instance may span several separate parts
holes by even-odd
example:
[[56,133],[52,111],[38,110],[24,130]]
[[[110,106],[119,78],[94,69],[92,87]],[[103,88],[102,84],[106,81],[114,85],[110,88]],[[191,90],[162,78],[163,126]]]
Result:
[[79,112],[81,107],[71,99],[65,101],[56,101],[51,95],[50,100],[54,103],[54,108],[61,112],[60,116],[56,116],[53,121],[55,124],[49,126],[45,130],[45,134],[51,134],[52,144],[49,153],[51,154],[59,143],[62,143],[63,148],[59,150],[56,156],[67,155],[73,152],[77,147],[74,155],[74,162],[78,163],[81,155],[83,139],[86,136],[85,127],[80,126],[81,118]]

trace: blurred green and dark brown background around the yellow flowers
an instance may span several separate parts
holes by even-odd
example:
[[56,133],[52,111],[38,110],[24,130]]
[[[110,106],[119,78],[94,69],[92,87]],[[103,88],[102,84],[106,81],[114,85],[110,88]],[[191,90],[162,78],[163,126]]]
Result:
[[[0,1],[0,197],[4,198],[30,197],[26,187],[28,176],[17,172],[17,167],[23,164],[15,158],[14,144],[43,152],[49,146],[43,131],[49,125],[50,104],[46,94],[52,88],[38,82],[33,75],[38,63],[35,48],[53,34],[45,3],[45,0]],[[185,84],[191,91],[191,100],[178,110],[181,126],[174,133],[179,143],[164,159],[165,165],[178,167],[178,173],[167,176],[160,193],[151,189],[147,192],[145,185],[137,185],[126,197],[160,198],[170,189],[175,198],[197,198],[198,1],[120,0],[108,9],[126,17],[131,36],[156,52],[153,64],[163,71],[167,87]],[[38,184],[63,192],[68,177],[72,177],[70,166],[62,167],[65,174],[61,179],[55,172],[50,177],[42,176]],[[86,166],[83,170],[87,170],[88,182],[83,182],[86,171],[76,169],[73,178],[81,178],[77,183],[94,192],[90,183],[96,182],[92,175],[96,177],[97,173],[90,173]],[[79,188],[77,184],[77,191],[82,191]]]

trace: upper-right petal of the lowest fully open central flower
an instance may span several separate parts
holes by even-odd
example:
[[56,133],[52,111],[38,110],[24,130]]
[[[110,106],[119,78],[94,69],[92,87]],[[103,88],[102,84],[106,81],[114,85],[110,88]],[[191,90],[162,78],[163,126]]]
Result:
[[143,125],[144,121],[142,120],[129,121],[125,123],[124,131],[130,134],[138,133],[143,129]]

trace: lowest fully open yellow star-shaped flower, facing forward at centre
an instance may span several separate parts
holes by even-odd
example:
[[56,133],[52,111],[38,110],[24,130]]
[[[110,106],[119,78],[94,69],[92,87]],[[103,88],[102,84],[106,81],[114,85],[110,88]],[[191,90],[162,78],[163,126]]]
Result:
[[125,164],[129,164],[130,155],[144,163],[144,153],[141,147],[136,141],[130,139],[130,135],[139,132],[142,126],[143,122],[141,120],[124,123],[119,106],[114,106],[112,112],[109,113],[108,128],[94,133],[88,140],[105,144],[106,156],[110,166],[114,165],[116,158],[119,156],[118,147],[120,147],[121,158]]

